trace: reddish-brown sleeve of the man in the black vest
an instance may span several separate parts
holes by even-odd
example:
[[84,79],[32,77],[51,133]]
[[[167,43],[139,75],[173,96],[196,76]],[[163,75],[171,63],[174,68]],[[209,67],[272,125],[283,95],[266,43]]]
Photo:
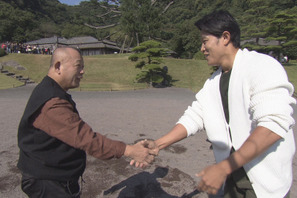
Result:
[[126,145],[96,133],[64,99],[52,98],[41,108],[33,126],[100,159],[120,158]]

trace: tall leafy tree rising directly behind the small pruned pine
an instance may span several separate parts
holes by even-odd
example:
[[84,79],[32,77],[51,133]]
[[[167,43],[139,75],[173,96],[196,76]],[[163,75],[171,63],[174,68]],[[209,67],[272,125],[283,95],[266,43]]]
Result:
[[[122,48],[137,46],[139,43],[154,39],[162,41],[170,34],[160,31],[162,16],[175,3],[175,0],[92,0],[97,2],[105,12],[98,14],[96,23],[85,22],[84,25],[96,30],[110,29],[110,36],[122,43]],[[118,21],[103,23],[105,18],[119,18]],[[106,20],[104,20],[106,21]],[[119,33],[117,33],[119,32]]]

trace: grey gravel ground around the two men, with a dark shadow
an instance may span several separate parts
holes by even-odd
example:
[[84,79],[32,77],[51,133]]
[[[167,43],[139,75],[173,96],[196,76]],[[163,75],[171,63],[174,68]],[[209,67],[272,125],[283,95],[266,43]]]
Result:
[[[20,190],[17,127],[34,85],[0,90],[0,197],[23,198]],[[95,131],[126,143],[156,139],[167,133],[195,94],[164,88],[119,92],[70,92],[81,117]],[[297,120],[297,109],[295,110]],[[295,126],[297,131],[297,126]],[[295,137],[296,139],[296,137]],[[146,169],[129,166],[128,159],[102,161],[88,157],[82,198],[95,197],[207,197],[195,191],[195,173],[214,163],[204,133],[161,151]],[[291,197],[297,197],[297,157]]]

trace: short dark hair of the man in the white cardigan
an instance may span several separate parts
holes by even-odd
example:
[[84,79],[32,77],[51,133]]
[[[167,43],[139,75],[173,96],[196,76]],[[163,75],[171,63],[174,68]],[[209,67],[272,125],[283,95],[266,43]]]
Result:
[[240,47],[240,28],[233,16],[224,10],[212,12],[195,23],[201,32],[220,38],[224,31],[231,35],[234,47]]

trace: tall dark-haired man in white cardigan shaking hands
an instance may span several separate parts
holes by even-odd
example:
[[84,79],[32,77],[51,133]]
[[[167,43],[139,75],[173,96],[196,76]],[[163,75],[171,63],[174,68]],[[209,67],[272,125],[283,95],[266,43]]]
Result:
[[227,11],[195,25],[208,65],[219,69],[176,126],[149,147],[158,151],[205,130],[216,164],[197,174],[198,190],[225,198],[289,197],[296,100],[284,68],[268,55],[241,50],[239,26]]

